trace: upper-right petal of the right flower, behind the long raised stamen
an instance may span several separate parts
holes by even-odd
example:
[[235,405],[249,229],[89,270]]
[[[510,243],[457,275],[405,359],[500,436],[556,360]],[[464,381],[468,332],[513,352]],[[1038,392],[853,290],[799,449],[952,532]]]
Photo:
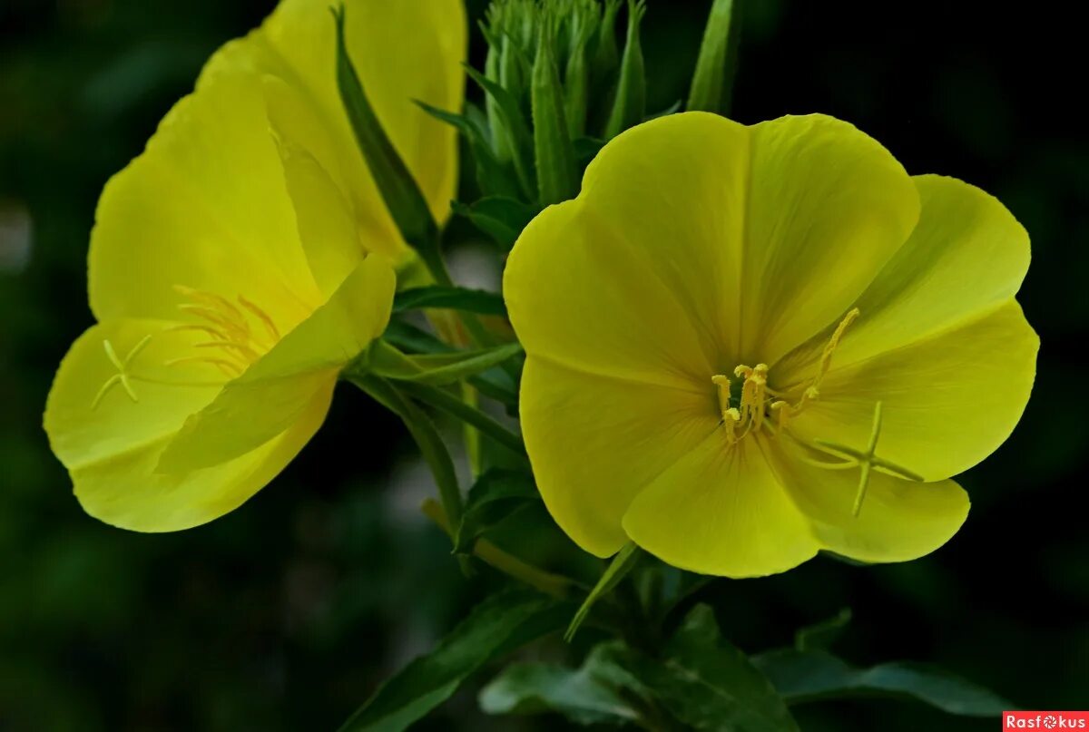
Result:
[[[991,310],[1017,293],[1028,271],[1028,233],[996,198],[952,178],[913,180],[919,222],[855,303],[861,315],[835,350],[833,367]],[[780,383],[811,378],[827,340],[822,333],[776,364]]]

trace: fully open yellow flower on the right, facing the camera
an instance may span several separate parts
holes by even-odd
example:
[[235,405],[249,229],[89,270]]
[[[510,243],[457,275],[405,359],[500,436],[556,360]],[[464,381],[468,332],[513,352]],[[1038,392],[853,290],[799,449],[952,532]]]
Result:
[[544,501],[587,551],[707,574],[926,554],[1028,400],[1028,263],[998,200],[844,122],[639,125],[506,267]]

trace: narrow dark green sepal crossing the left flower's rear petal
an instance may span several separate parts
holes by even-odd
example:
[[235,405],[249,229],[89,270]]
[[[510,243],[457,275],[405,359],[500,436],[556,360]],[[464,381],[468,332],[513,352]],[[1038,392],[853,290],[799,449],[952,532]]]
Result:
[[439,228],[412,172],[375,114],[352,65],[344,39],[344,7],[334,8],[332,12],[337,22],[337,84],[352,132],[401,235],[430,268],[441,259],[438,252]]

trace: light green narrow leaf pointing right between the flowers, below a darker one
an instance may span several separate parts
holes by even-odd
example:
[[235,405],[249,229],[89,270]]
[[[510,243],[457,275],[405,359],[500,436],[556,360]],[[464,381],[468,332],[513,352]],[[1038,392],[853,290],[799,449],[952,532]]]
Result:
[[370,345],[366,357],[351,368],[355,373],[366,371],[387,379],[442,387],[487,371],[519,353],[521,343],[506,343],[476,351],[413,356],[379,339]]

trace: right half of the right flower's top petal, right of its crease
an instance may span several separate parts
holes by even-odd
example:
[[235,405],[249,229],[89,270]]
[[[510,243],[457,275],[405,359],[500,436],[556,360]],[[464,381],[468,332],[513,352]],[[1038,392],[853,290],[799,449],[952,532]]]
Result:
[[846,122],[783,117],[750,132],[741,354],[773,364],[840,321],[911,233],[919,196]]

